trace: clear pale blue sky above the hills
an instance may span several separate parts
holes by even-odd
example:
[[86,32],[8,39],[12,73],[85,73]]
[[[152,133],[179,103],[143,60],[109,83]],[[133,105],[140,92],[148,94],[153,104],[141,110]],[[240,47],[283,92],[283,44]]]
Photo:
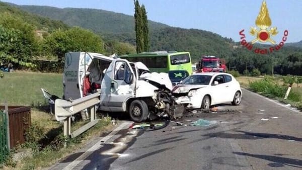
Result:
[[[3,1],[3,0],[0,0]],[[133,0],[4,0],[17,5],[38,5],[57,8],[91,8],[112,11],[133,16]],[[263,0],[139,0],[147,11],[149,20],[173,27],[194,28],[217,33],[222,37],[240,41],[239,32],[245,30],[246,40],[250,27],[256,27],[255,20]],[[288,31],[286,43],[302,40],[302,1],[266,0],[271,27],[277,27],[278,34],[272,37],[277,43]]]

